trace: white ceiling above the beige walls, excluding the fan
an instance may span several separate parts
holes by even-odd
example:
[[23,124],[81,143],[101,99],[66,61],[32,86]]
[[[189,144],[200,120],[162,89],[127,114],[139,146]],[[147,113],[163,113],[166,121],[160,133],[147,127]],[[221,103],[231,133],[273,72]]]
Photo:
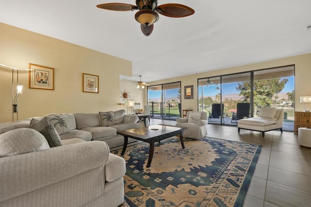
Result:
[[311,0],[158,0],[194,15],[160,15],[148,37],[136,11],[97,4],[135,0],[0,0],[0,22],[120,57],[128,80],[162,80],[311,52]]

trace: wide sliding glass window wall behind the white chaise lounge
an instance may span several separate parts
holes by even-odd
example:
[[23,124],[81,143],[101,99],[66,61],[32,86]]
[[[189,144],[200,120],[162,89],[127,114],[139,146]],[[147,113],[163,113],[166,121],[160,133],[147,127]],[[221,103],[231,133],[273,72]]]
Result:
[[[214,103],[223,105],[220,118]],[[207,111],[209,123],[236,125],[238,103],[249,103],[249,116],[261,107],[283,108],[283,128],[294,130],[294,65],[198,79],[198,110]]]

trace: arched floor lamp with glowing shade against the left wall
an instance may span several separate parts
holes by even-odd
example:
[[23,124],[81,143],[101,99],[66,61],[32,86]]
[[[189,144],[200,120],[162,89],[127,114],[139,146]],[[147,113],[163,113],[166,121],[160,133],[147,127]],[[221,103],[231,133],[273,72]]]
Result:
[[[20,94],[23,94],[23,86],[18,85],[18,71],[29,71],[31,69],[20,69],[20,68],[10,67],[4,64],[0,64],[0,66],[12,70],[12,121],[14,121],[14,113],[16,113],[16,118],[18,120],[18,96]],[[16,74],[16,83],[14,82],[15,74]]]

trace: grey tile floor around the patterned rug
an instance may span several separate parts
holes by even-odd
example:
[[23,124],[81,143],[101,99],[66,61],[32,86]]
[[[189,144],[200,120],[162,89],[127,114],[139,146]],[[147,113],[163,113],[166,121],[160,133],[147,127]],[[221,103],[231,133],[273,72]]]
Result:
[[[175,121],[151,119],[150,125]],[[311,207],[311,148],[300,147],[294,132],[265,133],[237,127],[207,125],[207,136],[261,144],[261,153],[244,207]]]

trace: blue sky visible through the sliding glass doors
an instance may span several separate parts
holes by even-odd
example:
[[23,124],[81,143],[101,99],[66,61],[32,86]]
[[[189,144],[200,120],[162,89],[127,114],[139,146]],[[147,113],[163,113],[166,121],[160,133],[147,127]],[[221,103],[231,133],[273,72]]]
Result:
[[[286,83],[284,89],[281,92],[292,92],[294,90],[294,77],[287,77],[288,82]],[[236,90],[236,87],[238,86],[237,83],[229,83],[229,84],[223,84],[223,95],[227,94],[237,94],[239,93]],[[220,85],[218,86],[220,88]],[[166,97],[167,98],[175,98],[177,97],[178,89],[170,89],[166,90]],[[198,93],[202,94],[202,87],[199,87]],[[220,90],[217,92],[216,85],[210,85],[208,87],[203,88],[204,96],[215,96],[217,93],[220,93]],[[161,91],[149,91],[148,98],[158,98],[161,97]]]

